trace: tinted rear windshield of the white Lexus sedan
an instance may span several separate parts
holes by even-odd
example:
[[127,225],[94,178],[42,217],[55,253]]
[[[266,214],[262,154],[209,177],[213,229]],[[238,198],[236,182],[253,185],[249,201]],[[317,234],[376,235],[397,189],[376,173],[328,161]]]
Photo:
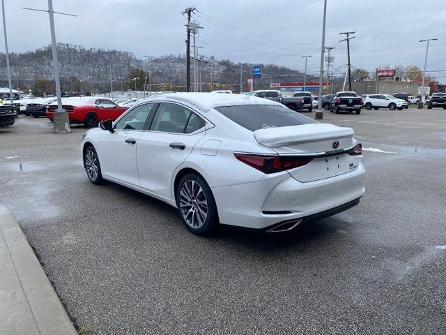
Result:
[[257,129],[317,124],[285,106],[276,105],[240,105],[215,108],[225,117],[243,126],[249,131]]

